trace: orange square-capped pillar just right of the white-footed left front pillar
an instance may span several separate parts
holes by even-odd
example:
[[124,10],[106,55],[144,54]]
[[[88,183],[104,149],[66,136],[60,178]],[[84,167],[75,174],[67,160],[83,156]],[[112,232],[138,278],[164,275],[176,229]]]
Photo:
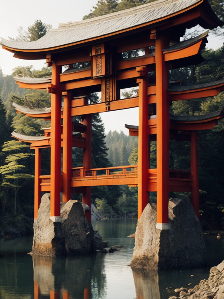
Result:
[[64,95],[63,109],[63,157],[62,157],[62,201],[71,199],[72,176],[72,117],[70,92],[62,92]]

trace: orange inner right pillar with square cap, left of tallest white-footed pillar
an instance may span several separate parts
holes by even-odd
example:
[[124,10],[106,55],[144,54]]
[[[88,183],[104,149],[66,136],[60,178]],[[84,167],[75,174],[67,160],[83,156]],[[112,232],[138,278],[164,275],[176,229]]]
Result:
[[139,138],[138,138],[138,219],[148,204],[148,73],[145,67],[137,67],[143,77],[139,83]]

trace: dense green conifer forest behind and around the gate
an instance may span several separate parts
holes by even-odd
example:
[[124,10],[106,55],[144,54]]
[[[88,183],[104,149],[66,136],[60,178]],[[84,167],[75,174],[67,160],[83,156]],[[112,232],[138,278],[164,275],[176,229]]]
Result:
[[[99,0],[96,7],[84,19],[101,16],[125,8],[135,7],[151,0]],[[223,2],[210,1],[217,15],[224,18]],[[19,28],[17,39],[33,41],[45,35],[50,25],[40,20],[28,27]],[[197,34],[199,29],[186,34],[184,38]],[[214,30],[223,35],[223,29]],[[217,50],[203,51],[206,61],[200,65],[175,69],[170,72],[170,80],[181,80],[183,85],[193,85],[223,79],[224,46]],[[134,53],[138,55],[137,52]],[[0,68],[0,236],[26,235],[32,233],[33,192],[34,192],[34,155],[27,144],[11,138],[15,131],[23,135],[43,135],[42,127],[50,123],[25,117],[14,110],[12,102],[30,108],[50,107],[50,94],[45,90],[29,91],[19,89],[14,75],[44,77],[51,69],[44,67],[34,70],[32,65],[13,69],[5,76]],[[127,91],[128,95],[132,91]],[[137,92],[136,90],[133,92]],[[98,94],[91,94],[90,100],[97,102]],[[124,94],[125,97],[125,94]],[[202,115],[221,111],[224,107],[223,92],[215,97],[176,101],[171,111],[176,115]],[[76,119],[78,120],[78,119]],[[121,128],[123,129],[123,128]],[[204,229],[224,229],[224,121],[220,120],[212,130],[199,132],[199,174],[201,223]],[[73,166],[81,166],[82,151],[73,148]],[[125,135],[123,131],[110,131],[105,135],[104,125],[99,115],[93,115],[92,123],[92,167],[108,167],[138,164],[138,139]],[[151,142],[151,168],[156,167],[156,142]],[[170,142],[170,168],[190,169],[190,142]],[[50,174],[50,150],[42,152],[42,174]],[[94,204],[106,215],[126,216],[137,211],[137,187],[101,186],[92,187]],[[171,193],[170,196],[190,197],[187,193]],[[80,199],[80,195],[73,195]],[[156,194],[150,194],[156,202]]]

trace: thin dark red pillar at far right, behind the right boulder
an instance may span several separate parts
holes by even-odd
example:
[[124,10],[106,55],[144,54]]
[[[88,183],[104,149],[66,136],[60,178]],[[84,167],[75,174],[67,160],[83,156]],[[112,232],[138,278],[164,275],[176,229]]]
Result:
[[199,171],[198,171],[197,137],[198,137],[197,131],[191,131],[191,179],[192,179],[191,204],[199,219],[200,202],[199,202]]

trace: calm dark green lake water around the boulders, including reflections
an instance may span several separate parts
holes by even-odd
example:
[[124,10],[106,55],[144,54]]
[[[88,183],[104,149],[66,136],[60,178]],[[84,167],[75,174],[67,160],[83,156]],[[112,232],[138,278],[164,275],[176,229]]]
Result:
[[[32,257],[32,238],[0,239],[1,299],[168,299],[166,287],[192,287],[207,279],[209,267],[224,260],[224,239],[206,236],[207,267],[172,271],[132,271],[137,220],[96,221],[103,240],[125,245],[111,254],[92,257]],[[191,277],[191,275],[194,277]]]

